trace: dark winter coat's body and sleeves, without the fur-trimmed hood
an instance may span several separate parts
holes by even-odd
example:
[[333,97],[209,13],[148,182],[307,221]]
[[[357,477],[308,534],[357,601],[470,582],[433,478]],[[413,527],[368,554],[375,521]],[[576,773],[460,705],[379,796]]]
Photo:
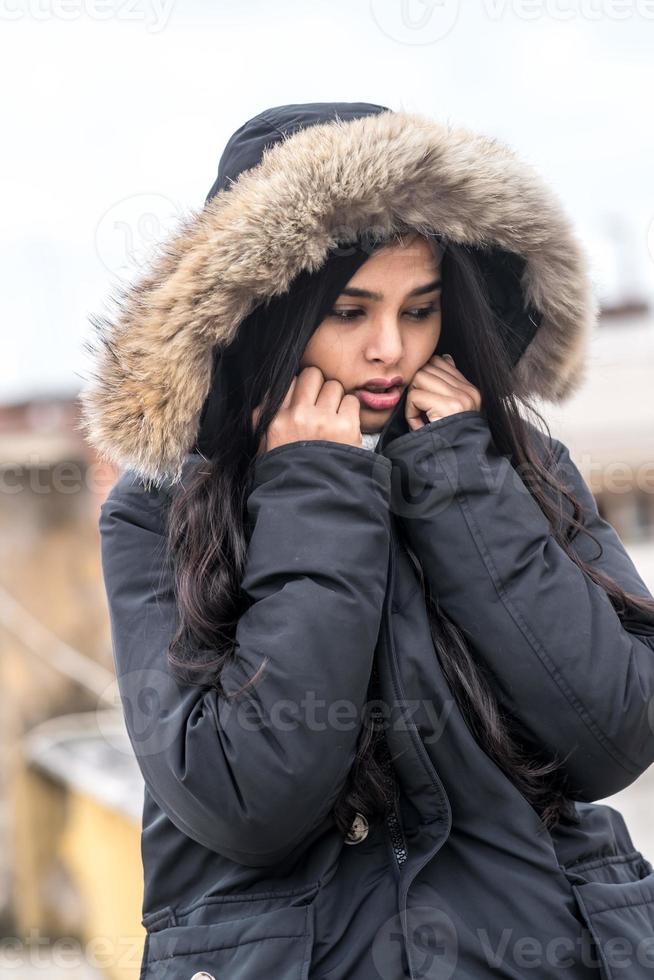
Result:
[[[277,718],[269,727],[169,678],[166,491],[127,472],[102,507],[116,668],[146,784],[143,978],[652,974],[654,871],[619,812],[593,803],[654,758],[652,627],[623,625],[563,552],[482,413],[411,432],[403,402],[376,452],[310,440],[257,461],[252,605],[223,680],[237,687],[268,659],[256,717]],[[580,535],[579,552],[649,595],[567,448],[553,448],[602,547]],[[418,474],[410,497],[403,474]],[[502,705],[568,756],[580,802],[552,834],[454,702],[398,522]],[[396,819],[347,844],[329,810],[373,662],[400,792]]]

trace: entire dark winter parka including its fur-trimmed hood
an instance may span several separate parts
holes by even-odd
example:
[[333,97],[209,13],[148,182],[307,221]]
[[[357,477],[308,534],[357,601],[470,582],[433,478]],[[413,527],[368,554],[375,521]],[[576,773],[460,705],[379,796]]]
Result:
[[[654,760],[652,622],[621,619],[561,549],[483,413],[409,431],[403,397],[376,451],[305,440],[260,457],[250,604],[222,675],[235,690],[265,662],[248,710],[168,668],[166,515],[202,459],[214,354],[371,226],[476,249],[516,395],[560,402],[583,378],[596,302],[535,170],[490,137],[367,103],[277,106],[240,127],[206,206],[97,319],[83,419],[124,468],[100,531],[145,781],[141,980],[645,980],[654,871],[597,801]],[[649,595],[566,446],[551,448],[600,545],[573,546]],[[455,702],[420,570],[516,731],[565,760],[576,803],[551,833]],[[331,810],[373,692],[397,795],[345,840]]]

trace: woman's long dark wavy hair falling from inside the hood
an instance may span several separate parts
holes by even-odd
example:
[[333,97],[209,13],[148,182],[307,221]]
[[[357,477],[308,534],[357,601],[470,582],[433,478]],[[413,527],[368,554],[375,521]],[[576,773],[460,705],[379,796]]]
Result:
[[[437,245],[436,238],[426,237]],[[401,241],[402,236],[396,240]],[[223,697],[235,698],[256,684],[265,669],[262,665],[238,691],[222,688],[221,671],[235,656],[235,630],[247,608],[240,583],[247,556],[247,485],[257,447],[298,373],[310,336],[361,262],[383,244],[379,240],[376,245],[367,242],[363,248],[344,250],[316,272],[303,273],[292,285],[292,302],[282,295],[261,304],[241,324],[235,341],[217,352],[214,384],[197,445],[201,462],[178,487],[168,514],[179,610],[168,658],[173,672],[185,683],[209,684]],[[633,607],[654,615],[654,602],[625,592],[573,551],[570,542],[574,536],[580,531],[590,534],[583,527],[583,506],[552,475],[551,459],[541,463],[532,445],[527,413],[538,419],[548,435],[549,429],[528,399],[518,398],[512,390],[510,345],[498,330],[482,255],[474,247],[453,242],[438,245],[443,312],[436,352],[452,353],[459,370],[479,389],[497,449],[521,474],[529,473],[528,489],[560,546],[606,591],[618,614]],[[261,411],[253,428],[256,406]],[[572,518],[566,521],[563,498],[573,508]],[[425,578],[421,579],[434,647],[469,728],[551,828],[571,808],[563,760],[548,757],[539,746],[521,740],[512,719],[500,708],[483,668],[472,657],[464,634],[439,608]],[[364,712],[356,757],[332,811],[343,835],[357,811],[372,821],[381,818],[389,805],[379,742],[378,721]]]

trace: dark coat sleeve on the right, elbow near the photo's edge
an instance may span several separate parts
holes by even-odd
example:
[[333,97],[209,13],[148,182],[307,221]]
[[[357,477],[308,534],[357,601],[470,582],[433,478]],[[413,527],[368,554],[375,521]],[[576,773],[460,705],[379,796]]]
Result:
[[[601,546],[579,532],[577,554],[651,598],[567,447],[552,440],[552,448]],[[554,538],[483,413],[437,419],[384,453],[393,464],[391,510],[518,730],[563,760],[577,799],[628,786],[654,760],[654,616],[621,621]]]

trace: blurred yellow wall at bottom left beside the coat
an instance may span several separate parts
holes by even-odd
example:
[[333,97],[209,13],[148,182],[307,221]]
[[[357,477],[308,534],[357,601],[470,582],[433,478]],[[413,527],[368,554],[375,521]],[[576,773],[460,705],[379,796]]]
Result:
[[25,766],[20,756],[16,762],[11,863],[17,935],[27,941],[36,930],[53,943],[76,937],[108,980],[138,980],[145,939],[140,827]]

